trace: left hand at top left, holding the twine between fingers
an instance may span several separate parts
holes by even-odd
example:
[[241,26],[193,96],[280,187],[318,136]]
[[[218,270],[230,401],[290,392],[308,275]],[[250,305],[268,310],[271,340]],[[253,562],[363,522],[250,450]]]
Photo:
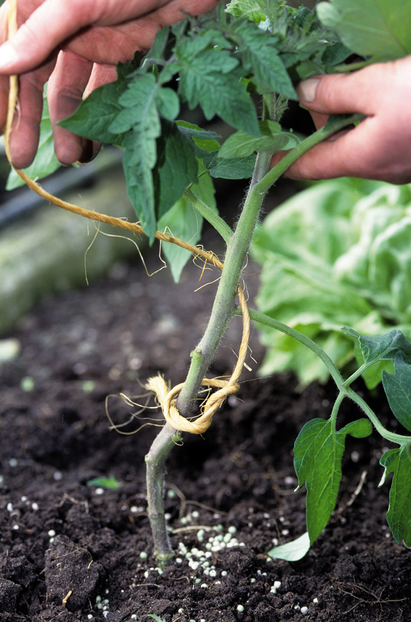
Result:
[[[47,80],[56,156],[62,164],[87,161],[98,152],[98,144],[59,128],[57,121],[75,111],[83,94],[115,80],[116,63],[148,50],[160,27],[182,19],[182,11],[210,11],[217,1],[18,0],[19,30],[0,47],[2,128],[8,76],[19,74],[19,112],[10,136],[13,165],[22,169],[34,159]],[[0,24],[6,19],[7,2],[0,9]],[[1,27],[0,33],[5,31]]]

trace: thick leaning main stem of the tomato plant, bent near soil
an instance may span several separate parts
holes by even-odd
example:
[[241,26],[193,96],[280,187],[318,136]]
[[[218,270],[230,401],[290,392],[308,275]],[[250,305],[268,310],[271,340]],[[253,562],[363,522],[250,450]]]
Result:
[[[192,362],[190,369],[176,404],[180,414],[185,417],[192,411],[192,404],[198,396],[201,382],[205,377],[208,366],[228,323],[234,315],[239,279],[265,194],[256,192],[254,188],[267,174],[270,160],[271,154],[264,153],[257,156],[256,168],[246,201],[244,202],[236,230],[229,240],[210,320],[200,343],[191,353]],[[164,517],[163,494],[166,472],[165,460],[178,438],[177,430],[173,429],[169,424],[165,424],[145,457],[149,520],[154,538],[154,555],[160,564],[166,564],[173,557]]]

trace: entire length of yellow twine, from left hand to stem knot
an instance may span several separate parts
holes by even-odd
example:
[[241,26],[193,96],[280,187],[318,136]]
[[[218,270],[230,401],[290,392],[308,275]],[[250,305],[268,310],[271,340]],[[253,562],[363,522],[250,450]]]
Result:
[[[7,37],[10,38],[16,32],[17,0],[11,0],[9,2],[9,9],[7,12]],[[7,109],[6,128],[4,129],[4,145],[6,149],[7,160],[9,160],[9,164],[12,167],[13,165],[11,163],[9,139],[14,119],[14,113],[17,109],[18,93],[19,79],[17,75],[11,75],[9,78],[9,101]],[[108,225],[112,226],[118,226],[122,229],[145,235],[143,228],[137,223],[129,223],[128,221],[122,220],[121,218],[114,218],[113,216],[101,214],[93,210],[87,210],[85,208],[78,207],[78,205],[73,205],[73,203],[63,201],[62,199],[50,194],[50,192],[44,190],[44,188],[42,188],[39,183],[30,179],[30,177],[25,174],[24,170],[15,169],[14,167],[13,169],[31,190],[34,190],[34,192],[36,192],[46,201],[53,203],[53,205],[57,205],[57,207],[60,207],[63,210],[71,211],[80,216],[84,216],[85,218],[90,218],[91,220],[95,220],[101,223],[107,223]],[[213,264],[213,266],[218,267],[220,270],[223,269],[223,263],[212,251],[205,251],[200,246],[193,246],[193,244],[188,244],[181,239],[175,238],[174,236],[167,235],[165,233],[161,233],[160,231],[155,232],[155,238],[168,242],[170,244],[176,244],[181,248],[185,248],[190,251],[190,253],[192,253],[194,256],[200,256],[201,258],[205,259],[206,262],[210,262],[210,264]],[[244,292],[242,291],[241,287],[238,287],[237,295],[242,311],[242,339],[239,348],[238,360],[236,366],[234,367],[233,373],[231,374],[231,378],[229,378],[228,380],[221,380],[216,378],[203,379],[201,383],[202,386],[214,387],[218,390],[215,393],[211,394],[208,399],[206,399],[205,403],[201,407],[200,417],[195,420],[185,419],[185,417],[180,415],[180,412],[178,412],[178,409],[175,406],[176,396],[182,390],[184,383],[177,384],[175,387],[173,387],[173,389],[171,389],[171,391],[169,391],[169,388],[167,387],[164,378],[159,375],[154,376],[153,378],[149,378],[147,384],[145,385],[147,389],[154,392],[155,396],[157,396],[157,400],[162,407],[165,420],[176,430],[181,430],[182,432],[191,432],[192,434],[203,434],[203,432],[205,432],[208,427],[210,427],[213,415],[219,409],[221,404],[223,404],[223,402],[229,395],[233,395],[239,389],[238,380],[241,375],[242,366],[244,365],[244,361],[247,355],[248,341],[250,335],[250,316],[246,299],[244,297]]]

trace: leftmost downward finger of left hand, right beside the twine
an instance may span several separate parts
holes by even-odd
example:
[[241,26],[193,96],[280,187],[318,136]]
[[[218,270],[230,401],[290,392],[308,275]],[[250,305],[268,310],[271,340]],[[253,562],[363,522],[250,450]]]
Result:
[[11,161],[16,169],[25,169],[34,160],[39,145],[44,85],[52,67],[50,62],[19,77],[18,107],[9,137]]

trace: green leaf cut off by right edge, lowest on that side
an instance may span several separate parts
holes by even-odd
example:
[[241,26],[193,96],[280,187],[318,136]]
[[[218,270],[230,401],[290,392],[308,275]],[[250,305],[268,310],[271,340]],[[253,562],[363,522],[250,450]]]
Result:
[[395,542],[404,539],[405,545],[411,547],[411,453],[408,445],[389,449],[381,457],[384,466],[380,486],[386,481],[389,473],[392,478],[387,522]]

